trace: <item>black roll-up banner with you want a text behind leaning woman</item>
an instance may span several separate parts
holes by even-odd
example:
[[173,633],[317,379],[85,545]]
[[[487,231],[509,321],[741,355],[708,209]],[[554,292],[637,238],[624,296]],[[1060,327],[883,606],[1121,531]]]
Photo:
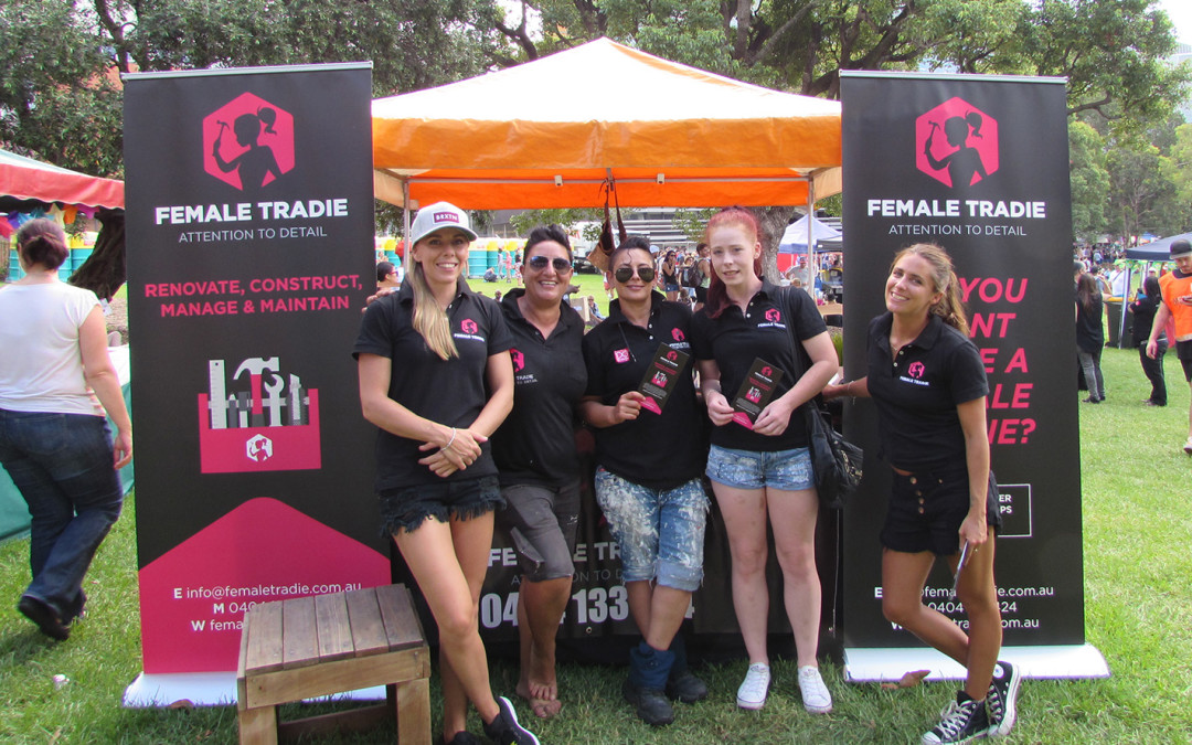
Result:
[[[894,254],[935,242],[952,256],[989,379],[992,467],[1004,526],[995,577],[1002,657],[1033,677],[1105,676],[1085,642],[1080,440],[1064,81],[842,73],[845,374],[865,374],[867,327],[884,312]],[[908,373],[913,374],[913,372]],[[870,402],[846,406],[865,479],[845,514],[844,645],[850,679],[963,668],[881,609],[879,532],[890,486]],[[937,561],[924,602],[962,627]]]

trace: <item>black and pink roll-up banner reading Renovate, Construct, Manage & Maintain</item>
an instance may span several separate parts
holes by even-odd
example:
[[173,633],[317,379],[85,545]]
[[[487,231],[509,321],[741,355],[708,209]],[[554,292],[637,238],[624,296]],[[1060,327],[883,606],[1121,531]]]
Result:
[[372,70],[124,91],[144,664],[125,703],[226,702],[248,608],[390,577],[350,356],[374,286]]

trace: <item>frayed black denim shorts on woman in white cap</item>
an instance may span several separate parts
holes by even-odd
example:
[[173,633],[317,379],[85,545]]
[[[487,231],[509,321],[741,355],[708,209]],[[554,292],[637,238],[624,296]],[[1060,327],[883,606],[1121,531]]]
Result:
[[501,484],[495,476],[397,486],[381,490],[377,497],[380,499],[383,538],[402,529],[412,533],[428,517],[439,522],[448,522],[453,517],[471,520],[505,504],[501,497]]

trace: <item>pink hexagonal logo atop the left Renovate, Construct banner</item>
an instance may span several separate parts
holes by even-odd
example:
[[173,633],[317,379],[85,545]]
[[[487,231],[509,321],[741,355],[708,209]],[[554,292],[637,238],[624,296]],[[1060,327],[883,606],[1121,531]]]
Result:
[[254,194],[294,167],[294,118],[242,93],[203,118],[203,169]]

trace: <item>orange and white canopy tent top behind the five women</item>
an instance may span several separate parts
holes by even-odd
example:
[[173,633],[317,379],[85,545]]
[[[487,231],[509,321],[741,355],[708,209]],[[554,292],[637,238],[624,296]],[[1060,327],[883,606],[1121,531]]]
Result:
[[802,205],[840,191],[840,104],[607,38],[372,105],[378,199],[472,210]]

